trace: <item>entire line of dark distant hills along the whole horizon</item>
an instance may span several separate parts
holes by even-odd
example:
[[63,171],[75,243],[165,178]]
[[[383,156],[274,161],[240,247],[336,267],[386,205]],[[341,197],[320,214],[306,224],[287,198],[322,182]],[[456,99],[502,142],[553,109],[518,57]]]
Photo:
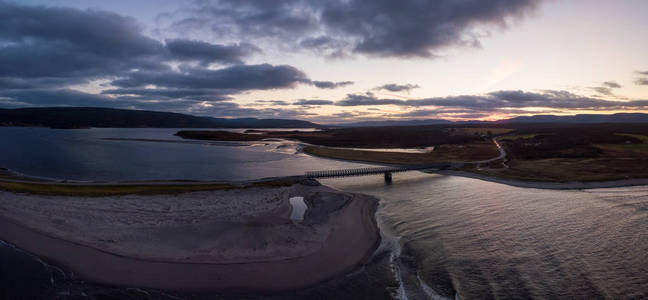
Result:
[[[443,119],[385,120],[336,124],[328,127],[386,127],[452,124],[508,123],[648,123],[648,114],[618,113],[575,116],[536,115],[493,122]],[[327,126],[289,119],[225,119],[179,113],[97,107],[43,107],[0,109],[0,126],[33,126],[52,128],[87,127],[158,127],[158,128],[323,128]]]

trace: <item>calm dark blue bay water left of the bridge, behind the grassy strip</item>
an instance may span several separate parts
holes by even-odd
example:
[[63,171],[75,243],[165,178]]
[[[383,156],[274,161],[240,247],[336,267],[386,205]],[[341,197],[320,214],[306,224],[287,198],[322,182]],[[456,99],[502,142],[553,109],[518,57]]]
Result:
[[130,181],[247,180],[367,166],[295,153],[296,145],[281,142],[229,143],[223,146],[105,140],[182,141],[173,135],[178,130],[0,127],[0,167],[47,178]]

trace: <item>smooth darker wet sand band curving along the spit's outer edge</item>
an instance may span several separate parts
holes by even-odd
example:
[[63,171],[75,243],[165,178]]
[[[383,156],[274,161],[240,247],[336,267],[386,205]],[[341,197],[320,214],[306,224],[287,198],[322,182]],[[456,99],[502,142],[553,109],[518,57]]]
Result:
[[[333,210],[324,207],[326,214],[311,212],[309,217],[307,213],[306,223],[299,225],[309,226],[309,222],[320,222],[331,227],[320,248],[311,247],[304,255],[276,260],[246,262],[239,259],[225,263],[205,263],[195,259],[182,261],[180,257],[172,260],[131,257],[128,253],[111,252],[96,245],[52,235],[34,228],[34,224],[27,226],[24,222],[10,218],[10,209],[6,206],[0,207],[0,240],[99,284],[188,293],[281,293],[318,284],[368,262],[381,239],[375,219],[378,200],[326,187],[300,186],[299,189],[317,190],[315,195],[322,199],[311,197],[311,205],[313,201],[320,201],[321,204],[321,201],[328,199],[326,197],[345,197],[347,200]],[[10,194],[3,193],[4,197]],[[285,212],[282,210],[281,214]],[[246,226],[264,226],[252,223]]]

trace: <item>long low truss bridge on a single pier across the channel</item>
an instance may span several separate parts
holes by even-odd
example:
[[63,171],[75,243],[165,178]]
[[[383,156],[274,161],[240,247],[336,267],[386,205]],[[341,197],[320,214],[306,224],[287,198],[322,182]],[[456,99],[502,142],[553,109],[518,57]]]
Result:
[[375,168],[357,168],[343,170],[325,170],[306,172],[308,178],[334,178],[349,176],[366,176],[384,174],[385,181],[391,182],[393,173],[422,171],[422,170],[448,170],[460,167],[458,163],[435,163],[418,166],[394,166],[394,167],[375,167]]

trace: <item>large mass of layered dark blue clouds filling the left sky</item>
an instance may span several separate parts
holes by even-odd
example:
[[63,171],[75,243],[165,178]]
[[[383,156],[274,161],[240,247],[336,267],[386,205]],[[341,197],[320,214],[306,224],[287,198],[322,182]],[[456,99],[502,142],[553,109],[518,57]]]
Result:
[[[246,43],[162,43],[146,36],[135,19],[115,13],[0,0],[3,103],[118,106],[146,100],[141,103],[171,107],[172,102],[227,100],[248,90],[346,84],[313,82],[288,65],[244,63],[259,51]],[[228,66],[208,68],[212,63]],[[102,86],[108,90],[91,95],[69,89],[94,80],[106,81]]]

